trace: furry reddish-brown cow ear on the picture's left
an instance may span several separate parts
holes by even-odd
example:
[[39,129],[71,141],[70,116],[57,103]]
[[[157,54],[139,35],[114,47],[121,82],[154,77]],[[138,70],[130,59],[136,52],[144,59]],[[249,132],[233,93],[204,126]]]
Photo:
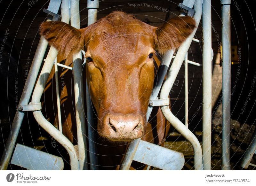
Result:
[[68,57],[84,48],[81,31],[61,21],[47,21],[40,26],[40,35],[59,52]]

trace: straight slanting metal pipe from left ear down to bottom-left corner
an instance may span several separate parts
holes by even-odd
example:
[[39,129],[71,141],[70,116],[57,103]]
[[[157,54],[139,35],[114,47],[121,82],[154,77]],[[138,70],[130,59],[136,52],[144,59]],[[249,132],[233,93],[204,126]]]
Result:
[[[28,105],[29,103],[29,99],[34,89],[36,78],[40,70],[47,45],[48,42],[44,39],[44,36],[41,36],[36,48],[35,56],[28,72],[28,79],[25,82],[25,86],[20,97],[19,105]],[[6,170],[9,165],[24,116],[25,112],[21,112],[17,109],[14,119],[12,121],[11,132],[5,144],[5,151],[1,158],[0,170]]]

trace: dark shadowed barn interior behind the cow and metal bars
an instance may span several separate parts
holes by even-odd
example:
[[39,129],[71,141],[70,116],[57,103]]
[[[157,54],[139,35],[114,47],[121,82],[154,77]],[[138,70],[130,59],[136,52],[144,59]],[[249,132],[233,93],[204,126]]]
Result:
[[[40,36],[38,35],[38,27],[41,22],[45,21],[47,15],[42,11],[43,8],[47,8],[49,1],[38,0],[34,1],[31,6],[28,5],[30,1],[1,1],[0,2],[0,36],[4,37],[5,31],[9,30],[7,43],[4,46],[6,54],[6,62],[3,62],[0,66],[2,88],[1,88],[1,133],[0,138],[0,154],[4,150],[4,142],[8,136],[10,123],[15,114],[15,78],[18,78],[18,96],[20,96],[22,87],[24,85],[26,74],[26,62],[29,60],[29,66],[32,62],[33,56],[36,51],[37,43]],[[244,102],[248,97],[249,90],[251,89],[253,76],[256,75],[255,68],[255,3],[256,1],[236,0],[231,4],[231,45],[236,48],[241,48],[241,68],[240,74],[237,79],[234,94],[231,96],[231,131],[233,132],[232,144],[236,144],[234,150],[232,150],[232,164],[233,169],[239,168],[239,161],[247,148],[252,130],[255,128],[255,98],[256,87],[253,89],[251,99],[246,105],[245,112],[240,114],[241,108],[243,108]],[[147,3],[154,4],[159,7],[168,9],[168,12],[162,12],[152,7],[139,6],[130,7],[132,3]],[[98,11],[98,19],[108,15],[112,11],[123,10],[136,15],[136,17],[150,25],[160,26],[164,21],[169,20],[172,17],[178,15],[178,11],[175,9],[177,3],[180,1],[167,1],[167,0],[148,0],[148,1],[128,1],[128,0],[104,0],[100,1],[100,8]],[[80,21],[81,26],[87,25],[87,2],[80,1]],[[238,9],[239,8],[239,9]],[[240,11],[239,11],[240,10]],[[196,33],[196,38],[202,40],[202,24],[199,25]],[[221,133],[221,62],[218,55],[218,40],[217,34],[221,39],[221,8],[220,1],[212,1],[212,49],[214,57],[212,61],[212,110],[217,111],[216,115],[212,117],[212,131],[216,132],[217,137],[213,135],[213,145],[217,139],[220,138]],[[1,43],[2,41],[0,41]],[[189,52],[188,59],[198,63],[202,63],[202,48],[201,44],[193,42]],[[231,89],[233,88],[238,64],[237,55],[235,54],[232,61],[235,62],[231,66]],[[11,57],[11,60],[9,58]],[[193,114],[195,114],[198,105],[202,101],[202,67],[189,65],[188,74],[188,101],[189,101],[189,128],[201,139],[200,132],[202,131],[202,109],[196,114],[195,118],[191,120]],[[185,122],[185,87],[184,87],[184,66],[181,67],[180,73],[177,76],[177,83],[174,85],[170,94],[172,100],[172,112],[183,123]],[[36,143],[38,139],[38,131],[42,132],[36,122],[33,119],[28,119],[31,114],[28,113],[25,117],[25,124],[22,126],[22,133],[19,136],[19,143],[23,143],[28,146],[38,146]],[[29,122],[30,121],[30,122]],[[244,123],[246,123],[246,130],[244,130]],[[239,125],[238,125],[239,124]],[[35,130],[31,132],[29,130]],[[172,129],[173,130],[173,129]],[[244,132],[241,137],[239,133]],[[41,135],[41,133],[39,134]],[[172,133],[172,131],[170,131]],[[23,134],[23,137],[22,137]],[[29,134],[29,135],[28,135]],[[40,136],[39,135],[39,136]],[[27,136],[24,137],[24,136]],[[240,138],[239,138],[240,137]],[[177,140],[177,139],[176,139]],[[220,139],[221,140],[221,139]],[[33,141],[33,143],[31,143]],[[36,145],[34,144],[36,143]],[[28,144],[27,144],[28,143]],[[39,142],[38,142],[39,143]],[[219,143],[219,142],[218,142]],[[44,145],[43,143],[41,145]],[[240,151],[237,149],[240,148]],[[217,156],[216,154],[219,155]],[[218,165],[212,165],[212,169],[220,169],[220,149],[213,152],[213,158],[217,157]],[[235,158],[234,158],[235,157]],[[238,166],[238,167],[237,167]]]

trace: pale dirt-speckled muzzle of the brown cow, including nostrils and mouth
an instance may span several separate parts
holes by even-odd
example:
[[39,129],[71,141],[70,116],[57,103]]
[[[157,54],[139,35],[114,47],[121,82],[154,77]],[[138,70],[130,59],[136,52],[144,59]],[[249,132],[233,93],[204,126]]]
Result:
[[[113,141],[131,141],[143,136],[143,118],[141,116],[113,115],[104,118],[104,135]],[[103,131],[102,131],[103,132]]]

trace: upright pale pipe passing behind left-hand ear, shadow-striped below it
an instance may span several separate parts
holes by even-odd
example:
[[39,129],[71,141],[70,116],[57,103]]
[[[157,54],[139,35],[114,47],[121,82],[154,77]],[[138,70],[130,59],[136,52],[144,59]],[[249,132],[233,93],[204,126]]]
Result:
[[[80,29],[79,1],[70,0],[70,23],[71,26]],[[75,44],[75,43],[74,43]],[[74,75],[74,92],[76,104],[76,128],[77,128],[77,144],[79,151],[80,170],[88,170],[88,159],[85,155],[86,130],[85,130],[85,114],[84,114],[84,83],[82,74],[82,56],[81,52],[73,55],[73,75]]]

